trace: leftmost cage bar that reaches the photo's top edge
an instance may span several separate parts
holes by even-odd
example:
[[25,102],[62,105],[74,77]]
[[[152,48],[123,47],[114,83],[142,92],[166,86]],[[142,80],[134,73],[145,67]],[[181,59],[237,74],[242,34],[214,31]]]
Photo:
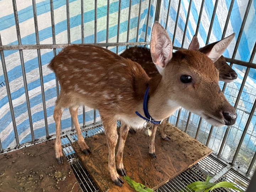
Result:
[[[18,44],[21,45],[20,25],[18,21],[16,0],[12,0],[12,7],[14,9],[14,19],[15,19],[15,25],[16,25]],[[30,99],[29,99],[28,88],[27,88],[27,77],[26,77],[26,69],[25,69],[25,63],[23,58],[23,51],[19,50],[19,53],[20,53],[20,61],[21,61],[22,78],[23,78],[23,84],[24,84],[25,96],[26,96],[26,102],[27,102],[28,120],[30,123],[31,139],[32,139],[32,142],[34,142],[34,129],[33,129],[31,109],[30,109]]]

